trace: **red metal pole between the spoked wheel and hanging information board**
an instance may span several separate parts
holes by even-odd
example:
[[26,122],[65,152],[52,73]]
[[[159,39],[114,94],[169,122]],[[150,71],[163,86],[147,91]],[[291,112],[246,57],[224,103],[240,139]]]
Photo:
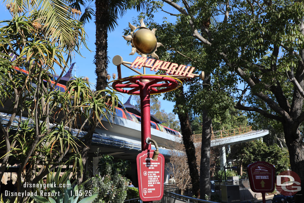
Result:
[[144,82],[140,88],[140,109],[141,109],[141,150],[151,149],[151,145],[146,143],[147,138],[151,138],[151,118],[150,118],[150,86]]

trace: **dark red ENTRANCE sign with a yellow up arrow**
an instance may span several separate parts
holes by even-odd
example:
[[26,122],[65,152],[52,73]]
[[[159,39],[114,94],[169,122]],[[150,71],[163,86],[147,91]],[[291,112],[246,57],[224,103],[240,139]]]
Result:
[[250,189],[254,192],[268,193],[275,190],[275,167],[264,161],[247,166]]

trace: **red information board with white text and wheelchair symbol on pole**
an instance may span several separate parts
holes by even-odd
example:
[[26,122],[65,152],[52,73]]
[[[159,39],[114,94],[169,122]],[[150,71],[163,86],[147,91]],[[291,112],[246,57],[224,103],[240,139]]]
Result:
[[159,154],[153,160],[154,150],[145,150],[137,155],[138,190],[143,201],[161,200],[164,194],[164,163],[165,159]]

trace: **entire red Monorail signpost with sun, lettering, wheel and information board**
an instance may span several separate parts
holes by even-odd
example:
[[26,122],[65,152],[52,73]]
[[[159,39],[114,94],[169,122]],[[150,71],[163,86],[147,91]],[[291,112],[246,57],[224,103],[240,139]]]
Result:
[[[138,53],[133,63],[123,61],[119,55],[113,57],[113,64],[117,66],[118,79],[109,82],[108,87],[117,92],[140,95],[141,107],[141,152],[137,156],[137,171],[139,182],[140,198],[144,202],[160,200],[164,190],[164,156],[159,154],[156,160],[152,159],[153,154],[158,154],[157,144],[154,143],[157,150],[151,150],[151,145],[147,142],[151,138],[150,121],[150,95],[160,94],[178,89],[183,85],[183,80],[199,77],[204,79],[204,72],[194,74],[194,67],[187,65],[178,65],[168,61],[160,61],[155,51],[161,43],[157,42],[155,30],[149,30],[143,19],[140,20],[140,26],[136,27],[129,23],[133,30],[130,35],[123,36],[125,40],[131,42],[132,51],[129,55]],[[156,59],[148,58],[154,57]],[[126,66],[139,75],[122,78],[121,65]],[[143,73],[139,71],[143,67]],[[162,70],[165,73],[161,75],[146,75],[146,68],[157,72]],[[109,75],[108,75],[109,76]],[[111,78],[111,76],[109,76]],[[113,79],[115,77],[113,76]],[[112,83],[112,85],[110,85]],[[151,140],[151,139],[150,139]],[[155,141],[154,141],[155,142]]]

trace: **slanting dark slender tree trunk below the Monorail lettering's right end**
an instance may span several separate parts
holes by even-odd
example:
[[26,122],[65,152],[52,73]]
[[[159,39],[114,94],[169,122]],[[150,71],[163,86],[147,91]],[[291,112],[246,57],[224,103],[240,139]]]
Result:
[[[185,95],[183,87],[180,87],[178,93],[176,94],[176,106],[183,105],[185,105]],[[199,171],[197,169],[195,146],[192,140],[192,129],[189,121],[189,114],[186,111],[182,112],[180,110],[177,111],[177,114],[181,123],[181,134],[183,135],[183,143],[187,155],[187,162],[192,183],[192,193],[196,198],[199,198]]]

